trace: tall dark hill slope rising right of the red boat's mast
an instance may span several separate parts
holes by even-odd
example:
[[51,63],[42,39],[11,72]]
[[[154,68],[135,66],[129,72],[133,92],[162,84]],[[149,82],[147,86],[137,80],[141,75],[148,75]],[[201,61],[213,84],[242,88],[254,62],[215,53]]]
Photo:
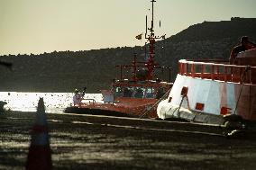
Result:
[[177,73],[177,62],[181,58],[228,59],[233,46],[240,37],[247,35],[256,42],[256,19],[232,18],[231,21],[202,22],[184,31],[161,40],[158,47],[165,47],[160,55],[161,63],[170,65]]

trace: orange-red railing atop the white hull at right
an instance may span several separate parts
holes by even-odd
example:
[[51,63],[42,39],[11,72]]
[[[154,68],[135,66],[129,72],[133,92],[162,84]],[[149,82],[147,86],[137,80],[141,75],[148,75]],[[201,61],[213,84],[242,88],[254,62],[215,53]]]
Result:
[[178,67],[179,74],[182,76],[256,85],[256,67],[188,61],[186,59],[179,60]]

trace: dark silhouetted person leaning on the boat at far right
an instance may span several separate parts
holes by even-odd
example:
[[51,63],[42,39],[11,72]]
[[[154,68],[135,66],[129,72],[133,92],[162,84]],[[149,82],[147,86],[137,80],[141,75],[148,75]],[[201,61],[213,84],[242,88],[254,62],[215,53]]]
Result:
[[235,46],[230,54],[229,62],[230,64],[236,64],[235,58],[237,57],[238,53],[256,48],[256,44],[251,42],[247,36],[242,36],[240,39],[240,45]]

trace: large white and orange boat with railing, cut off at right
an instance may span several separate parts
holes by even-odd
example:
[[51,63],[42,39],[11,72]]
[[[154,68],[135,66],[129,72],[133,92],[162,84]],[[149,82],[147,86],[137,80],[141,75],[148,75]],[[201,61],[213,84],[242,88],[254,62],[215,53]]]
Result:
[[238,54],[235,65],[224,60],[179,60],[178,76],[160,119],[173,118],[244,128],[256,122],[256,49]]

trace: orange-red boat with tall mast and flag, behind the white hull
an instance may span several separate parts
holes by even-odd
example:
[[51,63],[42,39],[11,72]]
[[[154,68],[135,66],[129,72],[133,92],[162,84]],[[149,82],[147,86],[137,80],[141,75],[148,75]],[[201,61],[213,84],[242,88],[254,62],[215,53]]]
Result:
[[[131,65],[117,66],[120,68],[120,79],[114,79],[110,90],[102,91],[103,102],[86,99],[81,103],[71,105],[64,112],[157,118],[156,106],[167,96],[172,84],[161,81],[154,75],[155,69],[164,68],[154,61],[155,43],[156,40],[165,39],[165,35],[156,36],[154,33],[153,7],[155,2],[151,0],[151,28],[147,27],[146,17],[145,40],[149,42],[149,53],[145,54],[147,59],[138,61],[137,56],[134,55]],[[142,40],[142,34],[136,36],[136,39]],[[123,70],[125,69],[133,70],[130,76],[124,76]]]

